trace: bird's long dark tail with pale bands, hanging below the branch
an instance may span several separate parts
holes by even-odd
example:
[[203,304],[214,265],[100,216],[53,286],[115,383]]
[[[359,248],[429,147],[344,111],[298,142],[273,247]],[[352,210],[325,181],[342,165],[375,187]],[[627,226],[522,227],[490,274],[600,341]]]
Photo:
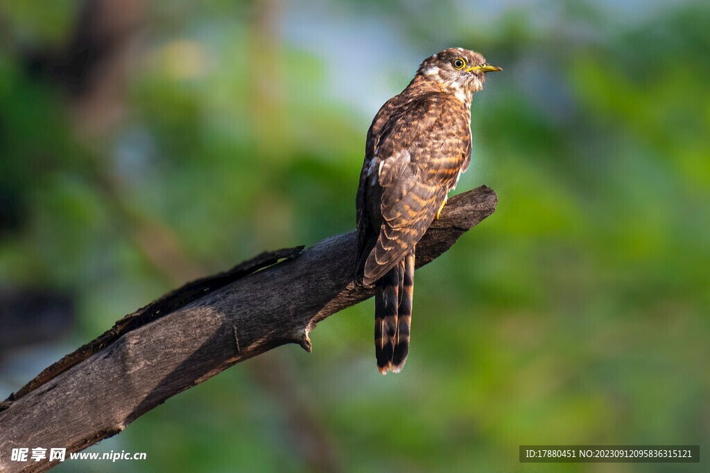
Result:
[[414,252],[375,282],[375,355],[382,374],[398,373],[409,353]]

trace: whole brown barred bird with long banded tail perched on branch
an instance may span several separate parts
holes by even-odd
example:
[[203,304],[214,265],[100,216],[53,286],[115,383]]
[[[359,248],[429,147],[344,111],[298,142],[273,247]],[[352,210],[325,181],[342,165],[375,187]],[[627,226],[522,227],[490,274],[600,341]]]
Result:
[[471,160],[471,99],[488,72],[472,50],[427,57],[367,132],[356,197],[356,280],[375,289],[375,355],[400,372],[410,342],[416,245]]

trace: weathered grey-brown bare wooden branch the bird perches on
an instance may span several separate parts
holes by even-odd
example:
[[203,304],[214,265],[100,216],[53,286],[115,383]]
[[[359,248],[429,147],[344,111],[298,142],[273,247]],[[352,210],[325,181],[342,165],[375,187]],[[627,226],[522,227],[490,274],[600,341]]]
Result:
[[[417,245],[417,267],[442,255],[496,203],[485,186],[452,197]],[[12,448],[77,452],[279,345],[310,352],[308,333],[318,322],[373,295],[354,282],[354,249],[350,232],[305,251],[265,253],[121,318],[0,403],[0,471],[44,471],[50,462],[12,462]]]

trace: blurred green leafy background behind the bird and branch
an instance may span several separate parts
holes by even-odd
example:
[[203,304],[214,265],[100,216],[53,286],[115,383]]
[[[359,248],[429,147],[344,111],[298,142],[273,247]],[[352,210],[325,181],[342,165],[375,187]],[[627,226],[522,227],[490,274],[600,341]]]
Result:
[[[496,213],[373,303],[58,472],[683,472],[521,444],[710,443],[706,1],[0,1],[0,398],[126,313],[354,228],[371,118],[454,45],[491,74],[457,191]],[[100,415],[100,413],[97,413]],[[0,428],[2,426],[0,425]]]

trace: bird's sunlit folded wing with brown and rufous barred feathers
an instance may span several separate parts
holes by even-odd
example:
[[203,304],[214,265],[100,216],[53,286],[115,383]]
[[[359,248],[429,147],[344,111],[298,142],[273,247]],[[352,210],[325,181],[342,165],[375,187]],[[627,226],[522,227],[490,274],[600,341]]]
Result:
[[470,155],[469,130],[468,112],[446,94],[416,99],[383,127],[365,182],[378,188],[367,199],[379,195],[381,216],[365,284],[403,260],[429,228]]

